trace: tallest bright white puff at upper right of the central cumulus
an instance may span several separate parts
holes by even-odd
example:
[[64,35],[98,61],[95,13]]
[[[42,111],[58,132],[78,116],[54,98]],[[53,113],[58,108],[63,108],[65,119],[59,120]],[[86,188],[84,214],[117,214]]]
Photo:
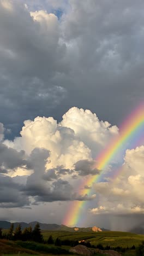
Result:
[[93,154],[97,153],[98,146],[103,148],[113,136],[118,135],[116,125],[111,126],[107,121],[100,121],[97,115],[88,109],[70,108],[63,115],[61,125],[74,130],[75,135],[92,149]]

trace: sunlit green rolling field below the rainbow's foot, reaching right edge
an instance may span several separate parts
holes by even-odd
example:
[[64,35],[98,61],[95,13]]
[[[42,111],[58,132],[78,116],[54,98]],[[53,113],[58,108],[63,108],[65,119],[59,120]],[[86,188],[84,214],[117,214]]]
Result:
[[120,231],[103,231],[103,232],[68,232],[68,231],[43,231],[44,239],[52,235],[55,240],[59,237],[61,240],[85,240],[89,241],[91,245],[98,245],[101,243],[103,246],[123,248],[139,246],[141,241],[144,240],[144,235],[132,234],[130,232]]

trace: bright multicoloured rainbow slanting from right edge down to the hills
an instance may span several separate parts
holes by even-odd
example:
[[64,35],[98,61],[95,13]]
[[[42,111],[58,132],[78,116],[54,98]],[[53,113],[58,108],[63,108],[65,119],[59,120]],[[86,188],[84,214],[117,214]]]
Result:
[[[104,169],[110,164],[113,156],[115,156],[118,152],[121,152],[125,144],[127,146],[129,139],[131,139],[131,141],[134,140],[135,143],[136,141],[140,142],[141,135],[139,136],[139,133],[140,129],[143,128],[143,125],[144,105],[142,103],[124,120],[119,128],[119,135],[112,139],[111,143],[95,159],[97,164],[94,166],[94,168],[96,167],[98,170],[100,170],[100,174],[95,176],[89,175],[87,179],[84,179],[79,187],[79,192],[81,195],[89,196],[91,194],[91,189],[85,188],[85,186],[91,187],[93,183],[100,181],[101,177],[103,176]],[[117,175],[115,175],[115,178],[116,177]],[[79,222],[81,209],[83,206],[85,206],[86,202],[87,201],[73,201],[64,217],[63,224],[68,226],[76,226]]]

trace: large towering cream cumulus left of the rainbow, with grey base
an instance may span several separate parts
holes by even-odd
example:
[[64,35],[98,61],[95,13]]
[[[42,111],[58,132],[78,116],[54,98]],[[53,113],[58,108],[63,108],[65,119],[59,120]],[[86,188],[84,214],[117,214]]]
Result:
[[[77,116],[79,118],[80,115],[79,132],[76,132]],[[117,134],[117,127],[100,121],[96,114],[89,110],[85,112],[78,108],[70,109],[59,123],[52,117],[26,120],[20,132],[21,137],[15,137],[13,141],[6,139],[3,144],[0,144],[1,172],[15,178],[13,180],[20,183],[20,190],[17,189],[19,193],[22,192],[26,196],[28,202],[37,204],[39,202],[95,199],[95,194],[82,195],[76,189],[81,176],[99,173],[99,170],[95,168],[95,161],[92,160],[91,138],[89,141],[88,136],[87,140],[84,139],[84,135],[91,132],[91,126],[87,125],[89,117],[91,117],[91,124],[95,127],[93,129],[95,135],[100,130],[104,136],[106,133],[106,146],[111,137]],[[73,127],[68,120],[73,121]],[[83,130],[84,126],[85,130]],[[97,152],[101,149],[99,142],[95,141]],[[22,181],[23,187],[21,188]]]

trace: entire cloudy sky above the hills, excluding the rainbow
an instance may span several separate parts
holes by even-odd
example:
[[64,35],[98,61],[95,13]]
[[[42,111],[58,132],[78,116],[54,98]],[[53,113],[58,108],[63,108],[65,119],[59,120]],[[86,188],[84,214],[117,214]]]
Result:
[[[0,219],[129,230],[144,213],[144,143],[92,195],[83,179],[143,101],[142,0],[0,0]],[[101,170],[100,170],[101,171]],[[109,175],[110,173],[110,175]],[[109,178],[107,178],[109,177]]]

